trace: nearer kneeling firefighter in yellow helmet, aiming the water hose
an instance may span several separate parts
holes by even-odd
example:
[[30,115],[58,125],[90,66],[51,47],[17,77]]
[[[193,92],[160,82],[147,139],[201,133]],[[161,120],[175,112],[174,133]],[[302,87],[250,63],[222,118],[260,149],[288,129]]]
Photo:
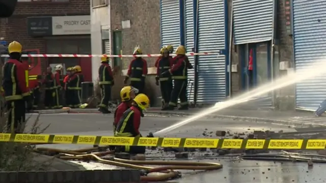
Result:
[[[149,108],[149,99],[145,94],[139,94],[134,99],[134,105],[127,109],[119,120],[115,136],[142,137],[139,132],[143,111]],[[130,154],[145,154],[145,146],[118,146],[116,151]]]

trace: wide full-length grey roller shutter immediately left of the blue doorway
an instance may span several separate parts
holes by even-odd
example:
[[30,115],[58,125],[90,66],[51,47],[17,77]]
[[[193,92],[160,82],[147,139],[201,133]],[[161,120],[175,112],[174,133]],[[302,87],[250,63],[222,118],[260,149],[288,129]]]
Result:
[[[224,1],[199,1],[199,52],[225,49]],[[225,55],[199,56],[198,104],[213,104],[226,97]]]

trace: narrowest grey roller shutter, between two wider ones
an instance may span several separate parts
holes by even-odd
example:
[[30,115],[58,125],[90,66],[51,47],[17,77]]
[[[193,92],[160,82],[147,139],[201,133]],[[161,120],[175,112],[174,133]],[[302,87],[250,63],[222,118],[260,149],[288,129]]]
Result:
[[[185,0],[185,47],[187,52],[192,52],[195,47],[194,36],[194,0]],[[188,56],[189,62],[194,66],[194,56]],[[188,69],[188,101],[194,102],[194,69]]]

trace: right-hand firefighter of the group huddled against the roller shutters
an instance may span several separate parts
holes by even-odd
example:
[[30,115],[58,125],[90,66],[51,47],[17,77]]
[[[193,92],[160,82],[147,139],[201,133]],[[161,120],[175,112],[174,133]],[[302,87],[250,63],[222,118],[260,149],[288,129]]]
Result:
[[169,106],[165,107],[164,110],[173,110],[175,107],[177,107],[178,99],[180,99],[179,110],[187,110],[188,99],[186,89],[188,79],[188,57],[185,55],[185,47],[182,45],[177,47],[175,53],[177,56],[173,58],[175,63],[173,67],[160,75],[160,78],[165,78],[171,75],[174,81]]

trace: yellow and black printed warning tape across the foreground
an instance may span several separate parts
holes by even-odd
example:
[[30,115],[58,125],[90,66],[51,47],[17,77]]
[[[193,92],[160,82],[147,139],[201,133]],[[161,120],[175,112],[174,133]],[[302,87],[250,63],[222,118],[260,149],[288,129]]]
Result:
[[326,139],[210,139],[169,137],[133,138],[95,135],[5,133],[0,133],[0,142],[238,149],[325,149],[326,146]]

